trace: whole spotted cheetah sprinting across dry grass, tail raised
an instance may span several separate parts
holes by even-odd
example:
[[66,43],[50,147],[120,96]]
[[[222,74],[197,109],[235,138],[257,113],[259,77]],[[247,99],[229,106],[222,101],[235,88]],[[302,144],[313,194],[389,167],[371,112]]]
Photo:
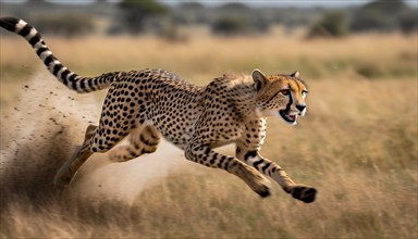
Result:
[[[293,181],[280,165],[259,152],[268,116],[295,125],[306,112],[308,89],[298,72],[224,74],[205,87],[156,68],[82,77],[61,64],[32,25],[16,17],[0,17],[0,26],[24,37],[67,88],[79,93],[109,88],[99,124],[87,127],[83,143],[58,171],[53,180],[57,187],[64,189],[91,154],[109,151],[125,137],[130,143],[110,153],[114,162],[155,152],[163,137],[182,149],[187,160],[224,169],[261,197],[270,194],[268,176],[293,198],[315,201],[315,188]],[[235,143],[235,156],[214,151],[229,143]]]

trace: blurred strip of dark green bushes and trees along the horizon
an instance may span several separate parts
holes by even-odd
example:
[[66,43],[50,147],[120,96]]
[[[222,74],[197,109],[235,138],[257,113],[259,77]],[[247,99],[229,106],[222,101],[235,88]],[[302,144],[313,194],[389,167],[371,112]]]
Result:
[[206,26],[212,34],[223,36],[268,34],[274,25],[290,30],[308,27],[309,38],[417,30],[417,9],[403,0],[372,0],[341,9],[254,7],[245,1],[216,5],[199,1],[173,2],[176,4],[157,0],[89,0],[78,1],[79,4],[29,0],[19,4],[2,2],[0,14],[29,18],[42,33],[69,37],[94,32],[156,34],[176,40],[181,28],[193,26]]

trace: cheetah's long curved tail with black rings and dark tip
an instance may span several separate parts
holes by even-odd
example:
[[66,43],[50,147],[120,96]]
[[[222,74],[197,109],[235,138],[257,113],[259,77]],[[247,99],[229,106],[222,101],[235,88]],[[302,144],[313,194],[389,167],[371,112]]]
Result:
[[49,72],[57,77],[62,84],[79,93],[91,92],[107,88],[112,81],[118,79],[120,72],[107,73],[96,77],[82,77],[61,64],[52,54],[40,34],[26,23],[16,17],[0,17],[0,26],[9,32],[15,33],[24,37],[36,54],[42,60]]

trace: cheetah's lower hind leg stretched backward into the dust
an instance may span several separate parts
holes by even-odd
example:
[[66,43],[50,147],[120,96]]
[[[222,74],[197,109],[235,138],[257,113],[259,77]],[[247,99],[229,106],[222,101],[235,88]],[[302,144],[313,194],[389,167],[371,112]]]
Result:
[[90,139],[95,135],[96,128],[97,126],[95,125],[89,125],[87,127],[83,144],[75,148],[73,155],[65,161],[56,174],[53,179],[53,185],[56,187],[63,189],[65,186],[70,185],[77,169],[93,154],[90,151]]

